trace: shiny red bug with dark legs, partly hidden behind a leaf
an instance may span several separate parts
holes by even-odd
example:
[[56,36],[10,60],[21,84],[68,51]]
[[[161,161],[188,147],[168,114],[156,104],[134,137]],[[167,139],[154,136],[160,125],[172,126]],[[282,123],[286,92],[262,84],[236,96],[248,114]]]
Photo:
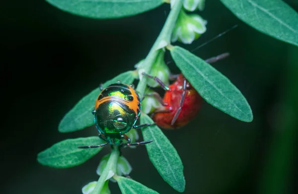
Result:
[[[214,63],[224,59],[228,53],[206,60],[207,63]],[[163,107],[156,109],[152,115],[152,120],[158,127],[163,129],[178,129],[195,118],[201,109],[203,99],[200,94],[192,87],[183,74],[172,75],[171,79],[176,80],[169,86],[165,85],[157,77],[143,73],[143,75],[154,79],[165,90],[164,97],[161,98],[158,93],[147,94],[154,96]]]

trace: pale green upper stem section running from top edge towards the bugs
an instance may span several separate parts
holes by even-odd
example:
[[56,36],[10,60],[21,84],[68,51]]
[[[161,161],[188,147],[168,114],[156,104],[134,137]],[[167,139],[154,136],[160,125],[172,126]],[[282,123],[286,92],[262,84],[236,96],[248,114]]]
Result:
[[[152,48],[149,51],[149,54],[147,55],[145,61],[143,62],[142,66],[139,70],[142,69],[143,72],[150,73],[152,65],[156,59],[156,56],[158,54],[158,50],[166,47],[171,42],[171,35],[173,32],[173,29],[175,27],[176,20],[178,18],[178,15],[180,13],[180,10],[182,8],[183,0],[176,0],[174,3],[174,6],[172,7],[163,27],[160,31],[156,41],[154,42]],[[143,76],[140,79],[140,82],[137,87],[137,91],[140,93],[140,96],[144,96],[145,89],[147,85],[147,77]]]

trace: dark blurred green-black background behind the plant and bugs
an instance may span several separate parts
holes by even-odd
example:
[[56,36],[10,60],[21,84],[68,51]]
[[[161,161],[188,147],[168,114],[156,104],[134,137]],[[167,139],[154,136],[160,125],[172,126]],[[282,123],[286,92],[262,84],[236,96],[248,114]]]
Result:
[[[286,2],[298,10],[297,1]],[[98,179],[95,170],[109,147],[69,169],[42,166],[36,156],[61,140],[97,135],[94,126],[60,133],[58,125],[99,83],[134,69],[147,56],[169,5],[96,20],[41,0],[1,4],[1,193],[81,194],[85,184]],[[207,59],[230,53],[213,65],[246,97],[254,120],[238,121],[204,103],[184,128],[163,130],[182,159],[184,193],[298,193],[298,48],[249,27],[220,1],[206,0],[199,14],[208,20],[207,32],[192,45],[178,45],[193,50],[237,24],[194,54]],[[169,53],[166,59],[171,60]],[[179,72],[174,63],[170,68]],[[150,163],[145,146],[126,148],[123,155],[134,180],[160,194],[178,194]],[[110,190],[120,194],[115,183]]]

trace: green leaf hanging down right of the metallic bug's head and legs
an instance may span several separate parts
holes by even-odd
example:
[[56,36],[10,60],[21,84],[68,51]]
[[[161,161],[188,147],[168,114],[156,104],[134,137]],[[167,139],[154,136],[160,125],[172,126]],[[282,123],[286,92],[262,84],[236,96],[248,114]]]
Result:
[[[154,123],[146,114],[141,115],[141,124]],[[178,192],[185,189],[182,161],[168,138],[157,126],[142,129],[144,140],[153,140],[146,144],[149,158],[156,170],[172,188]]]

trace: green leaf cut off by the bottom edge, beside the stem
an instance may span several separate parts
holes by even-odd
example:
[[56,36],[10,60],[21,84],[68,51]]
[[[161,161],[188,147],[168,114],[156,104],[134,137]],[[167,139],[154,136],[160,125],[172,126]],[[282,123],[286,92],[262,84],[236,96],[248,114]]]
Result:
[[114,178],[116,179],[122,194],[158,194],[154,190],[151,190],[132,179],[121,176],[114,176]]

